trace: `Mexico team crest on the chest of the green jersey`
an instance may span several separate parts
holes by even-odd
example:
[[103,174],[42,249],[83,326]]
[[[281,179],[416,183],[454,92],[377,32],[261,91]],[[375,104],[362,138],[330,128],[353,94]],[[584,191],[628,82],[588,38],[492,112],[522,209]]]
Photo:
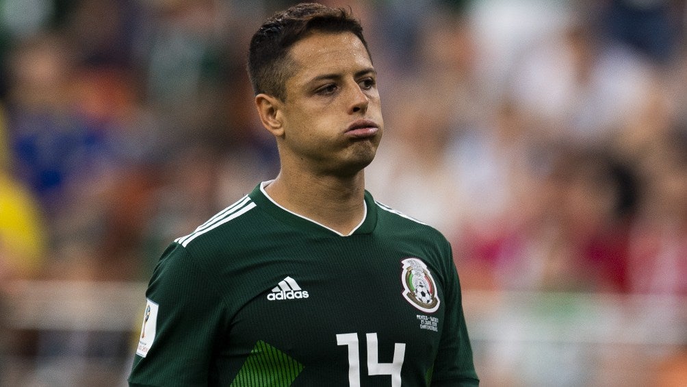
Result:
[[439,308],[436,283],[427,265],[419,258],[405,258],[401,269],[403,297],[410,305],[423,312],[434,312]]

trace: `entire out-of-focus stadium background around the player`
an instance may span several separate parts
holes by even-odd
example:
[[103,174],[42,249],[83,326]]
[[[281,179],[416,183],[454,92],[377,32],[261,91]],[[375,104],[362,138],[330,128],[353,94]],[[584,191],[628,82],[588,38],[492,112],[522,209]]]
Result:
[[[124,385],[164,247],[278,170],[245,74],[292,1],[0,0],[0,385]],[[483,386],[687,386],[686,9],[328,2],[376,198],[453,243]]]

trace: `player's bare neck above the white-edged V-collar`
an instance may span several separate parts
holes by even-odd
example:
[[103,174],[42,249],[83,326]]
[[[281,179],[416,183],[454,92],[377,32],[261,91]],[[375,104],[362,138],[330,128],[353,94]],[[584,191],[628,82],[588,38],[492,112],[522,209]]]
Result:
[[348,235],[365,216],[363,171],[351,177],[315,177],[280,171],[265,191],[280,206]]

